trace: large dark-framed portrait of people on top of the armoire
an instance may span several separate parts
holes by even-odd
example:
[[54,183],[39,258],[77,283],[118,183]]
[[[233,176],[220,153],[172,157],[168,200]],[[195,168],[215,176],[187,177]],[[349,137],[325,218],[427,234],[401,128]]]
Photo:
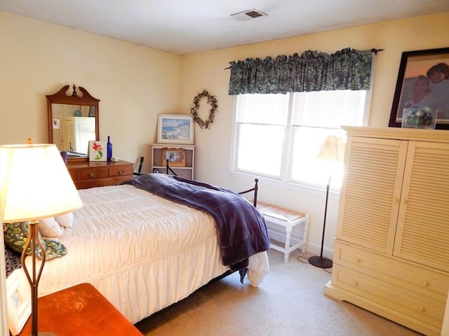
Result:
[[436,129],[449,130],[449,47],[402,53],[389,127],[422,108],[434,111]]

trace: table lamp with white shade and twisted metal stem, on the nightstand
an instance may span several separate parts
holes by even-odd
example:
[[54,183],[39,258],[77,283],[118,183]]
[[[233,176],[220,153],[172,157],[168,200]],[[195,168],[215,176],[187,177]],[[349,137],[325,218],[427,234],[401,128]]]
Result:
[[[37,336],[38,284],[45,263],[45,250],[39,240],[41,218],[60,216],[82,207],[67,167],[54,144],[0,146],[0,209],[4,223],[28,222],[27,243],[22,251],[22,268],[31,287],[32,336]],[[25,264],[28,247],[32,251],[31,272]],[[42,251],[36,269],[36,247]],[[54,335],[39,332],[39,336]]]

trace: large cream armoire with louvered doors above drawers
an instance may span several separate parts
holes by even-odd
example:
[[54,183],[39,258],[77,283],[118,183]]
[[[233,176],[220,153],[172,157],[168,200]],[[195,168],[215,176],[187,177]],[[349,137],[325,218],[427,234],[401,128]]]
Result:
[[449,132],[343,128],[345,177],[324,293],[440,335],[449,288]]

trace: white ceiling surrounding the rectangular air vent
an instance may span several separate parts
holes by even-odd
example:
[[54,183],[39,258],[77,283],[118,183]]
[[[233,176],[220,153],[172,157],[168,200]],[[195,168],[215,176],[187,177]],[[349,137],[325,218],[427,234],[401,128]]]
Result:
[[[267,16],[230,16],[253,8]],[[443,12],[449,0],[0,0],[0,10],[187,55]]]

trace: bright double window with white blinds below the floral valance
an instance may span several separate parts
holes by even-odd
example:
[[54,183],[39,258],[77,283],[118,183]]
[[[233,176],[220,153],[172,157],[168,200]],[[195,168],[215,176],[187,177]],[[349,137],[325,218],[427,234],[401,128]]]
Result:
[[[234,172],[305,186],[342,181],[342,162],[323,158],[330,144],[342,160],[342,125],[367,119],[367,91],[339,90],[236,96]],[[335,137],[334,137],[335,136]],[[334,141],[334,142],[329,142]]]

